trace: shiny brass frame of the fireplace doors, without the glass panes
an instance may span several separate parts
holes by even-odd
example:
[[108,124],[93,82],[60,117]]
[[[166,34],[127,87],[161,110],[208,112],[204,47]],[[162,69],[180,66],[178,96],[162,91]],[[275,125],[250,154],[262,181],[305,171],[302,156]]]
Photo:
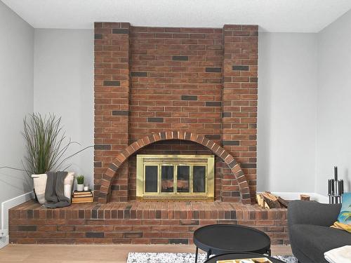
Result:
[[[150,201],[213,201],[214,200],[214,168],[213,155],[164,155],[164,154],[137,154],[136,156],[136,198]],[[173,166],[173,192],[161,192],[161,166]],[[145,192],[145,166],[157,166],[157,192]],[[177,190],[177,166],[190,166],[189,188],[190,192]],[[193,167],[206,166],[205,191],[194,193]]]

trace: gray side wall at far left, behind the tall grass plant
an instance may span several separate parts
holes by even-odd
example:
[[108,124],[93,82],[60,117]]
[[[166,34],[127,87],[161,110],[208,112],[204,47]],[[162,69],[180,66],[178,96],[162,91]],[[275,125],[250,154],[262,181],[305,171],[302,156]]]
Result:
[[[0,166],[22,168],[22,121],[33,112],[34,29],[0,1],[0,34]],[[31,191],[27,179],[0,169],[0,203]]]

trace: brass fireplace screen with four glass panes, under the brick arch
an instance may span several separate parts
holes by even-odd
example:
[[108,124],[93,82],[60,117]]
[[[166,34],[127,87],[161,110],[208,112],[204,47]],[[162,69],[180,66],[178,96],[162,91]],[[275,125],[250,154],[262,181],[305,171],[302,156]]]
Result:
[[137,155],[138,200],[208,200],[214,197],[213,155]]

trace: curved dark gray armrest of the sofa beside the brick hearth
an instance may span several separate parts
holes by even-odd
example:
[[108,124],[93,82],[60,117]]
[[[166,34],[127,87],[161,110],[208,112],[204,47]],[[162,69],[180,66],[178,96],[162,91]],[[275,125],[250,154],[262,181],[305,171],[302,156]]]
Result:
[[341,204],[291,201],[288,205],[289,228],[293,224],[314,224],[329,227],[336,222],[340,209]]

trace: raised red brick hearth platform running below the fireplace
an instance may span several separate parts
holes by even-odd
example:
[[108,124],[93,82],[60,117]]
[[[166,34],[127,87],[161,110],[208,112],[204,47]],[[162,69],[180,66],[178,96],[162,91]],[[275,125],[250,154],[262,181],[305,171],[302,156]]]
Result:
[[113,202],[44,209],[29,201],[9,212],[11,243],[192,243],[206,224],[244,224],[272,244],[289,243],[286,209],[225,202]]

